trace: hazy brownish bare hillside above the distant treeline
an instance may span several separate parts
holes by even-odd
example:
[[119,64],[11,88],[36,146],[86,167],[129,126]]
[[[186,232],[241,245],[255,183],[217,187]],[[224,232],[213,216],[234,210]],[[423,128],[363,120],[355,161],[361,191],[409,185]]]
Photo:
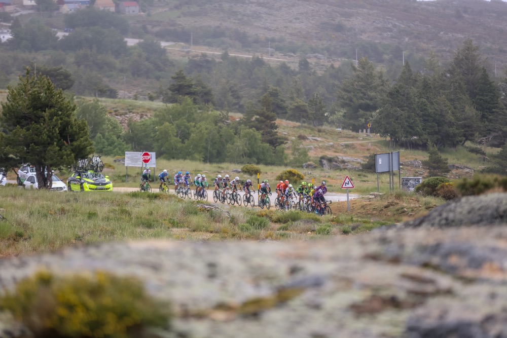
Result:
[[246,33],[252,36],[254,53],[270,54],[269,46],[273,52],[307,50],[306,54],[326,55],[328,60],[354,59],[356,49],[358,57],[376,62],[386,61],[391,53],[401,60],[403,51],[406,58],[427,57],[431,50],[448,60],[471,37],[501,67],[506,14],[507,3],[498,0],[195,0],[157,2],[153,14],[134,21],[161,37],[164,29],[187,31],[187,40],[176,41],[189,45],[192,35],[194,45],[222,45],[230,50],[236,45],[245,50],[248,46],[240,46],[242,38],[231,41],[231,36]]

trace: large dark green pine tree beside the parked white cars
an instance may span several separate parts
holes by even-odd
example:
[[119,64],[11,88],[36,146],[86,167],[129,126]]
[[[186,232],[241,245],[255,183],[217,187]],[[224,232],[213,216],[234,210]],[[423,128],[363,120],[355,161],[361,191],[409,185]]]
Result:
[[93,152],[86,121],[74,115],[76,106],[49,78],[29,69],[16,87],[8,87],[2,102],[0,147],[35,166],[40,186],[50,188],[52,169],[70,166]]

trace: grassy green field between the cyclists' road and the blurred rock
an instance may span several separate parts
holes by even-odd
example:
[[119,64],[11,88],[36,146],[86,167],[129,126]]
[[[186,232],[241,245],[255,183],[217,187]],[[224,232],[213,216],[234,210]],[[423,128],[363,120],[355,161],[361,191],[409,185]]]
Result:
[[[395,216],[394,213],[392,216],[373,214],[374,220],[367,215],[357,217],[346,212],[346,202],[333,203],[333,215],[324,217],[243,207],[229,208],[229,216],[220,210],[200,208],[202,202],[139,192],[60,194],[6,186],[0,189],[0,197],[0,213],[5,217],[0,221],[0,257],[143,239],[313,240],[329,235],[360,234],[403,218],[403,214]],[[433,207],[443,202],[413,198],[421,206]],[[372,203],[386,204],[388,200],[358,200],[357,203],[373,206]],[[343,207],[345,211],[339,211]]]

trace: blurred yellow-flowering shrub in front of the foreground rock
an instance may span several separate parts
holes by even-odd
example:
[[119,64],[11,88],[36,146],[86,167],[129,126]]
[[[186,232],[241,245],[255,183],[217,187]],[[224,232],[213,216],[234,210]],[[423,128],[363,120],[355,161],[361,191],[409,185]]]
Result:
[[67,277],[38,272],[3,295],[0,308],[35,337],[141,336],[150,326],[167,328],[170,319],[168,305],[149,296],[140,280],[106,272]]

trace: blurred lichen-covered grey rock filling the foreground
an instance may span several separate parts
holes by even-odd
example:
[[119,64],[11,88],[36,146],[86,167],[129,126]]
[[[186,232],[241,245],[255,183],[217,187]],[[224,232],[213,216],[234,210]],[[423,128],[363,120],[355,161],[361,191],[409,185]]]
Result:
[[[167,337],[506,337],[505,201],[462,198],[419,223],[322,241],[146,241],[6,259],[0,287],[40,269],[134,275],[173,304]],[[3,336],[24,332],[2,318]]]

